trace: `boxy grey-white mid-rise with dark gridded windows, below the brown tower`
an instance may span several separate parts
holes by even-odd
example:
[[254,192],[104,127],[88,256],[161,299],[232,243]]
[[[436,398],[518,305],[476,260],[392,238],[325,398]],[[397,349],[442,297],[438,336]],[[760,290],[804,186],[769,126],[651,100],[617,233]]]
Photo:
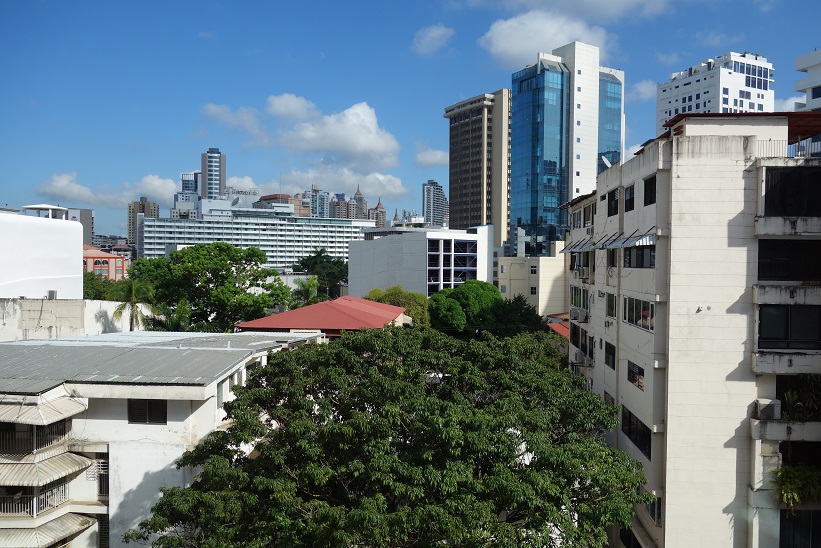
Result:
[[401,285],[431,296],[467,280],[493,282],[493,226],[467,230],[393,227],[350,243],[348,292]]

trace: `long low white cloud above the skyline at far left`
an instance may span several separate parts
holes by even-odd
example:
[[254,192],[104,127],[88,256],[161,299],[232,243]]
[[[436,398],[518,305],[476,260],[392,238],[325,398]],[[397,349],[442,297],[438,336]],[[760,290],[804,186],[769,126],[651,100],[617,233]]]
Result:
[[108,190],[104,185],[92,188],[77,182],[77,173],[55,173],[51,179],[41,183],[35,191],[51,200],[63,201],[70,205],[91,205],[125,209],[132,200],[146,196],[162,207],[171,207],[177,183],[158,175],[146,175],[135,183],[124,182],[119,187]]

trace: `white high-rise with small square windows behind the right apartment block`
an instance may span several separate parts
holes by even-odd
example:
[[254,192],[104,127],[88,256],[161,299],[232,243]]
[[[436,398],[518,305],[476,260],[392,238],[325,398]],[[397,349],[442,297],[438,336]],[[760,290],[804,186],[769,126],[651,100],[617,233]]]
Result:
[[690,112],[772,112],[772,63],[755,53],[725,53],[674,72],[656,91],[656,134],[667,120]]

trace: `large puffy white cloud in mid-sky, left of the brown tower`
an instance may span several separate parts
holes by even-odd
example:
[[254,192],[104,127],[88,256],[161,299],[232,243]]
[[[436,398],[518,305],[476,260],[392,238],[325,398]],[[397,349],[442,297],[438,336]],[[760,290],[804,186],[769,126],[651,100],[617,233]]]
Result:
[[320,153],[323,162],[358,172],[386,169],[399,163],[399,143],[379,127],[376,112],[367,103],[301,122],[287,131],[281,142],[297,152]]

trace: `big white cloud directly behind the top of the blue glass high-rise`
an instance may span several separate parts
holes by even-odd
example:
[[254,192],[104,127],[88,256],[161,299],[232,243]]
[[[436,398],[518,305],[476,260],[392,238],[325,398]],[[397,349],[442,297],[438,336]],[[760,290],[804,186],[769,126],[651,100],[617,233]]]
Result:
[[536,61],[537,52],[550,53],[576,40],[598,46],[602,61],[615,45],[615,36],[602,27],[539,10],[495,21],[479,39],[479,45],[504,63],[523,67]]

